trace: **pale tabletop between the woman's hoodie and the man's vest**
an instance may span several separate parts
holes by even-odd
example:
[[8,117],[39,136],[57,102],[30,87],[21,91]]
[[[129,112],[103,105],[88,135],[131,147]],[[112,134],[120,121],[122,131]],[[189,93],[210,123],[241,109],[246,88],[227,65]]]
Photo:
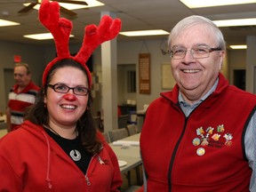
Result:
[[[122,140],[140,141],[140,133],[126,137]],[[124,148],[123,146],[114,145],[113,143],[109,143],[109,145],[114,150],[118,160],[127,162],[126,165],[120,167],[121,173],[128,172],[142,164],[140,146],[129,146]]]

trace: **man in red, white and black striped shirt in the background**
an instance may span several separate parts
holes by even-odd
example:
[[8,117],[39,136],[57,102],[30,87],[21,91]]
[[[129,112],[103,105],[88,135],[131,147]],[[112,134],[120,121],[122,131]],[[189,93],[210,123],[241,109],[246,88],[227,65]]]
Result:
[[36,94],[40,89],[31,81],[31,72],[26,63],[16,63],[13,76],[15,84],[9,92],[6,108],[8,132],[18,129],[22,124],[26,109],[35,103]]

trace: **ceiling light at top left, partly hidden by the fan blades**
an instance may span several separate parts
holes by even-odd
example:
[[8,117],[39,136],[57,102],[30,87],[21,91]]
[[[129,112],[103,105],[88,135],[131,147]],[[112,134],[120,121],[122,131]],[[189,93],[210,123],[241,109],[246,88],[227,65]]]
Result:
[[[81,1],[81,0],[73,0],[73,1]],[[95,6],[102,6],[104,4],[100,3],[97,0],[85,0],[88,5],[82,5],[82,4],[65,4],[65,3],[60,3],[60,6],[68,9],[68,10],[77,10],[77,9],[84,9],[84,8],[89,8],[89,7],[95,7]],[[41,1],[39,1],[41,3]],[[24,4],[25,6],[28,6],[28,4]],[[36,4],[33,8],[36,10],[39,10],[40,4]]]

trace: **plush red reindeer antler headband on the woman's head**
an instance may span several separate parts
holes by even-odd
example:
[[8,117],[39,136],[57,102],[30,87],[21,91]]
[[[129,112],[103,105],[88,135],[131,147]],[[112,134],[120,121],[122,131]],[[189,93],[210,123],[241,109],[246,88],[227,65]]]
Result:
[[85,63],[100,44],[118,35],[121,29],[121,20],[112,20],[108,15],[104,15],[100,20],[99,27],[96,25],[86,26],[84,28],[82,47],[75,57],[70,55],[68,47],[69,36],[73,28],[72,22],[65,18],[60,18],[60,4],[44,0],[39,9],[39,20],[52,33],[57,51],[57,58],[52,60],[44,69],[43,86],[46,83],[46,76],[52,66],[58,60],[68,58],[76,60],[83,65],[88,75],[89,85],[91,86],[92,76]]

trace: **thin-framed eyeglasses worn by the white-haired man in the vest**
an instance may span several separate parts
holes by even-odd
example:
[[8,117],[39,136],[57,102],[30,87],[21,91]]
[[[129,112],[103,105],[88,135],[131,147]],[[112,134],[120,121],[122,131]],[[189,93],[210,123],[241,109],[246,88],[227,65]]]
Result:
[[185,55],[188,51],[190,51],[190,53],[194,59],[201,59],[201,58],[209,57],[210,52],[221,51],[221,48],[220,47],[210,48],[208,46],[195,46],[191,49],[186,49],[185,47],[180,47],[180,46],[174,45],[172,47],[172,51],[170,52],[170,57],[173,60],[180,60],[185,57]]

